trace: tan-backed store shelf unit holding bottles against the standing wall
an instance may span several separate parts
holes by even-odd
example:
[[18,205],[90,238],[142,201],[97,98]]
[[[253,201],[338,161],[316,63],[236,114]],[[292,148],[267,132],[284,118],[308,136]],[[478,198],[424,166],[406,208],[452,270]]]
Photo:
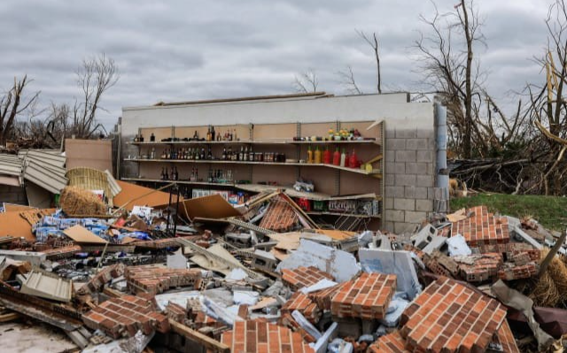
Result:
[[[362,121],[328,121],[322,123],[278,123],[278,124],[248,124],[218,126],[214,125],[217,133],[223,134],[230,131],[237,134],[237,140],[233,141],[183,141],[197,133],[205,136],[207,126],[198,127],[144,127],[138,129],[138,134],[143,134],[144,142],[127,142],[138,148],[137,156],[128,156],[125,162],[137,165],[137,177],[122,178],[122,180],[154,183],[172,182],[173,180],[160,180],[159,170],[161,167],[176,166],[180,178],[176,180],[178,184],[186,185],[187,188],[233,188],[245,190],[252,193],[264,190],[283,189],[289,196],[304,197],[314,201],[331,200],[378,200],[382,201],[384,196],[384,121],[375,122],[369,120]],[[363,139],[351,141],[311,141],[311,136],[327,136],[329,128],[338,131],[341,128],[358,129]],[[150,135],[155,135],[155,141],[148,141]],[[292,137],[301,137],[302,140],[295,140]],[[175,138],[180,141],[161,141],[168,138]],[[305,140],[308,141],[305,141]],[[209,148],[213,156],[221,156],[223,146],[248,146],[254,152],[277,152],[284,153],[291,162],[259,162],[259,161],[233,161],[221,159],[150,159],[150,150],[154,149],[156,156],[166,149],[177,149],[183,147],[202,146]],[[372,170],[367,171],[361,168],[349,168],[339,165],[327,164],[307,164],[303,160],[307,159],[307,146],[313,149],[348,150],[349,155],[352,150],[356,151],[357,156],[363,164],[372,161]],[[144,157],[143,157],[144,156]],[[299,162],[301,161],[301,162]],[[250,180],[249,184],[236,183],[214,183],[206,180],[190,181],[183,180],[190,174],[192,168],[198,168],[201,177],[206,177],[211,170],[227,170],[233,172],[234,180]],[[204,171],[204,172],[202,172]],[[298,192],[291,187],[280,185],[292,185],[295,180],[313,180],[315,193]],[[266,185],[276,183],[278,186]],[[378,228],[384,222],[384,205],[380,203],[380,215],[367,216],[357,213],[342,213],[334,211],[313,211],[317,217],[343,218],[361,217],[370,219],[374,228]]]

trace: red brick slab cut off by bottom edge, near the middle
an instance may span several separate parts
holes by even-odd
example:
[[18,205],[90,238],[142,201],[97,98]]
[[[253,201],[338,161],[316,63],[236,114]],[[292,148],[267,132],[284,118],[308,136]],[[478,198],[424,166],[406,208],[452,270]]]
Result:
[[236,321],[232,330],[222,334],[221,342],[238,353],[315,353],[298,333],[258,320]]

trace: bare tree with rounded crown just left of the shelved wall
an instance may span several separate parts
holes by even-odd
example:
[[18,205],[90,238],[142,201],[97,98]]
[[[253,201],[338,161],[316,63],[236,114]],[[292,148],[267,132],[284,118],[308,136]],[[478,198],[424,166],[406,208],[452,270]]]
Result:
[[84,59],[76,74],[82,97],[75,100],[70,112],[71,134],[88,139],[102,127],[97,123],[97,111],[105,110],[100,105],[102,96],[116,84],[120,74],[114,60],[107,58],[104,53]]

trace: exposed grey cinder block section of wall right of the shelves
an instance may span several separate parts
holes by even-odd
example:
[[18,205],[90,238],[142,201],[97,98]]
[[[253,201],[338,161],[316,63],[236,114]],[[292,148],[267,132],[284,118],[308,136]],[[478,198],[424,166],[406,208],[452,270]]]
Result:
[[384,227],[396,234],[411,232],[433,211],[435,128],[386,125],[385,137]]

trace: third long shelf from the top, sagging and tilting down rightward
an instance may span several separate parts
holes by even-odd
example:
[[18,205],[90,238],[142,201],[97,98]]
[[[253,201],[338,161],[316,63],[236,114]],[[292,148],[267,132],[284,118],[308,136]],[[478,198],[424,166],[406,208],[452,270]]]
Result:
[[240,190],[250,191],[253,193],[260,193],[262,191],[276,191],[283,190],[287,195],[291,197],[301,197],[307,198],[308,200],[314,201],[332,201],[332,200],[360,200],[360,199],[374,199],[382,200],[382,197],[376,194],[361,194],[361,195],[347,195],[347,196],[330,196],[322,193],[306,193],[297,191],[291,187],[284,187],[281,185],[262,185],[262,184],[229,184],[229,183],[218,183],[218,182],[207,182],[207,181],[190,181],[190,180],[160,180],[160,179],[148,179],[148,178],[122,178],[121,180],[127,181],[145,181],[145,182],[159,182],[163,184],[177,182],[183,185],[203,185],[203,186],[213,186],[213,187],[229,187],[238,188]]

